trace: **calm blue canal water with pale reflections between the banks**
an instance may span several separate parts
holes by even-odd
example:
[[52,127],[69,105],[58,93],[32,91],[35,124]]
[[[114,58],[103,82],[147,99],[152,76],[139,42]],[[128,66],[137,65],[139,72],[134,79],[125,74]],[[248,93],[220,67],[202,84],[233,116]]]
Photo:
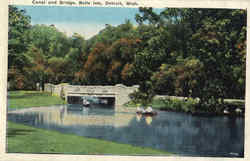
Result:
[[[78,108],[79,107],[79,108]],[[244,119],[159,111],[155,117],[123,107],[53,106],[9,111],[8,120],[185,156],[243,157]]]

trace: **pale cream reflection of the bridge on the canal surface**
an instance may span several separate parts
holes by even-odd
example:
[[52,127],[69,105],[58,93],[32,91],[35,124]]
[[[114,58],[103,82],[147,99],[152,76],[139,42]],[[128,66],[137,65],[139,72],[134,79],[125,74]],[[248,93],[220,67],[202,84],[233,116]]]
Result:
[[[76,105],[61,107],[43,107],[33,109],[23,109],[18,111],[10,111],[10,119],[16,119],[15,116],[31,119],[34,118],[35,125],[38,124],[54,124],[60,126],[68,125],[96,125],[96,126],[128,126],[129,122],[134,118],[134,113],[114,112],[112,109],[106,108],[86,108]],[[19,118],[19,117],[17,117]],[[25,119],[24,119],[25,120]],[[25,121],[24,121],[25,122]]]

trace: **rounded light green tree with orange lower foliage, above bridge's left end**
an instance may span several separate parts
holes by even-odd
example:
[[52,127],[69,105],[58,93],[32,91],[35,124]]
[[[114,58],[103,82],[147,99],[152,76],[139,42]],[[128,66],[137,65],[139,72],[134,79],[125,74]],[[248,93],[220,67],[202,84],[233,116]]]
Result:
[[74,49],[71,48],[71,39],[64,33],[53,25],[34,25],[24,37],[28,42],[25,56],[31,63],[25,65],[26,73],[33,76],[30,82],[40,82],[43,87],[46,82],[57,84],[73,78],[72,71],[69,71],[72,59],[68,55]]

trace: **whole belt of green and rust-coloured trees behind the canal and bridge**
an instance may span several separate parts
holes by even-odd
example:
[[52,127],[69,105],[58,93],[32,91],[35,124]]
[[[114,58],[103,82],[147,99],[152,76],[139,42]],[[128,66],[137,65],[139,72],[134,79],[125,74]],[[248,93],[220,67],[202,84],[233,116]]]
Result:
[[138,11],[137,24],[106,24],[86,40],[53,24],[31,25],[24,10],[10,6],[10,89],[138,84],[131,98],[142,104],[156,94],[199,98],[195,110],[209,112],[224,108],[225,98],[244,99],[246,10]]

